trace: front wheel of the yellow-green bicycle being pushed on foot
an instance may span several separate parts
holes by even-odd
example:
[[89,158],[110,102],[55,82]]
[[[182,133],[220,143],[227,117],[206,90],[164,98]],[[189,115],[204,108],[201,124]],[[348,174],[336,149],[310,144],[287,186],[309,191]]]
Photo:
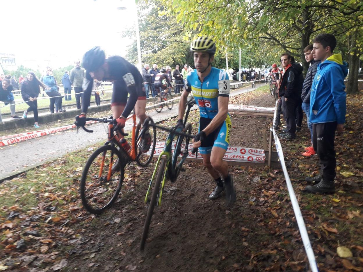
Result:
[[154,191],[152,191],[151,200],[149,203],[149,207],[147,209],[147,214],[146,214],[146,219],[145,219],[145,224],[144,224],[144,231],[143,231],[143,234],[141,237],[140,250],[143,250],[145,247],[147,234],[148,234],[149,228],[150,228],[152,213],[154,212],[154,208],[158,205],[159,188],[160,188],[160,184],[163,179],[163,176],[164,176],[165,164],[166,164],[166,159],[163,158],[160,161],[160,167],[159,167],[158,176],[156,177]]

